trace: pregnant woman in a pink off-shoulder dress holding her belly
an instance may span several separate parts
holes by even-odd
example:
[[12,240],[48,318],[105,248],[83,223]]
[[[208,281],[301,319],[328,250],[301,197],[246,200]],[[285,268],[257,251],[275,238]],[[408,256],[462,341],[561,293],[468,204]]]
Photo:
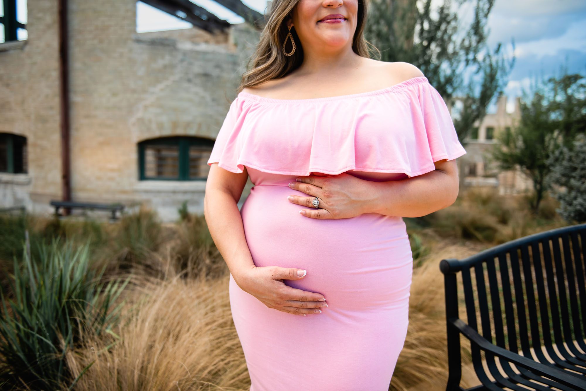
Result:
[[403,217],[458,196],[448,108],[417,67],[369,58],[366,5],[274,0],[207,161],[250,391],[387,390],[409,323]]

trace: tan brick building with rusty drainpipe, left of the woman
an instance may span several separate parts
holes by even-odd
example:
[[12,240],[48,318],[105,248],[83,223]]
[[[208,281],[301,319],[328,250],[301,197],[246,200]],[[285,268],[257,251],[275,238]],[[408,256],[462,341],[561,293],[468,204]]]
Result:
[[[169,221],[187,201],[202,212],[206,162],[258,30],[189,1],[145,3],[193,28],[137,33],[135,0],[70,0],[64,15],[59,0],[29,0],[24,22],[8,1],[0,208],[146,203]],[[232,11],[263,18],[242,4]]]

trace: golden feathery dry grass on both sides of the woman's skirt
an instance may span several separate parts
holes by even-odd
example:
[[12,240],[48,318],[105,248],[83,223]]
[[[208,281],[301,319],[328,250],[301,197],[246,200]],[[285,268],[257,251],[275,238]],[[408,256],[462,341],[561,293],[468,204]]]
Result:
[[[435,261],[471,253],[457,245],[434,248],[414,270],[410,324],[390,390],[445,389],[444,288]],[[173,265],[171,258],[154,258]],[[135,276],[125,296],[128,307],[121,314],[126,321],[116,330],[119,338],[86,335],[86,347],[68,360],[74,375],[96,360],[76,389],[248,390],[246,361],[230,314],[227,275],[181,275],[169,273],[166,280]],[[462,346],[466,349],[466,341]],[[466,357],[470,362],[469,355],[462,357],[464,364]]]

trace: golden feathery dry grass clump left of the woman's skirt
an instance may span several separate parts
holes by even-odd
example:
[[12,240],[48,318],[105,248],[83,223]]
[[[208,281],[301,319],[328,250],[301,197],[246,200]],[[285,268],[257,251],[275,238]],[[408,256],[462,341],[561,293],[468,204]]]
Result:
[[86,335],[67,365],[79,390],[248,390],[234,329],[228,279],[135,277],[125,323],[107,340]]

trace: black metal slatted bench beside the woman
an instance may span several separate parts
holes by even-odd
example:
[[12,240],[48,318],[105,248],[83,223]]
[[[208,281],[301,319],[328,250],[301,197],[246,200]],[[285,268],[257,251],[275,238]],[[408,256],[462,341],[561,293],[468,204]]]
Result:
[[[447,390],[465,390],[459,385],[460,334],[471,342],[482,383],[468,390],[586,390],[585,261],[586,224],[525,236],[461,260],[442,259]],[[457,273],[467,323],[458,315]]]

